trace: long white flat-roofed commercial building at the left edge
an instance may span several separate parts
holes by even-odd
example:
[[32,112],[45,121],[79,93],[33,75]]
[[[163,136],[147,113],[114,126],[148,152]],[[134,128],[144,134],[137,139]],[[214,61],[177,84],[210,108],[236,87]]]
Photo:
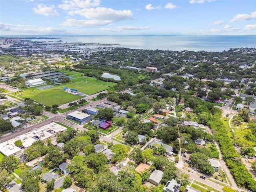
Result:
[[[53,122],[40,128],[36,128],[31,132],[27,132],[8,141],[0,143],[0,152],[5,156],[17,155],[22,153],[24,149],[30,147],[35,141],[46,141],[48,138],[53,138],[55,134],[65,132],[66,130],[66,127]],[[21,148],[14,144],[17,140],[22,141]]]

